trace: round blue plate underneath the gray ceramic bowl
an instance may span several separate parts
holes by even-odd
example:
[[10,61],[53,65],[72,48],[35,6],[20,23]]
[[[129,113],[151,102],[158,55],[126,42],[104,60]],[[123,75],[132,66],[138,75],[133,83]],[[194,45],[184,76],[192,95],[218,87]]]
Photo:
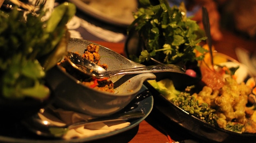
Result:
[[[132,129],[139,125],[148,115],[150,114],[151,110],[153,109],[153,97],[151,93],[148,91],[146,86],[142,86],[139,93],[136,95],[135,99],[133,99],[125,108],[124,110],[119,111],[122,113],[123,111],[127,111],[128,109],[132,110],[139,110],[143,109],[145,116],[138,118],[138,119],[131,119],[129,120],[130,125],[114,130],[108,133],[96,134],[94,136],[85,137],[85,138],[76,138],[76,139],[52,139],[46,138],[44,136],[37,136],[34,133],[31,133],[27,130],[24,125],[20,122],[13,122],[11,124],[0,124],[0,143],[87,143],[87,142],[103,142],[109,139],[105,139],[110,136],[119,136],[121,133],[125,132],[132,132]],[[117,113],[118,114],[118,113]],[[130,130],[130,131],[129,131]],[[122,138],[119,139],[112,137],[110,138],[112,142],[127,142],[130,139]],[[108,142],[108,141],[106,141]]]

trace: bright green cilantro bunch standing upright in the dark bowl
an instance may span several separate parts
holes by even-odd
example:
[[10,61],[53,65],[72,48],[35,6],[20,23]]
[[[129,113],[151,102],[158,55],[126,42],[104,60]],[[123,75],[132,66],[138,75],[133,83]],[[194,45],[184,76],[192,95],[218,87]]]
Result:
[[198,24],[186,17],[183,3],[180,7],[170,7],[166,0],[153,5],[150,0],[139,0],[142,5],[135,20],[128,27],[128,34],[135,29],[144,42],[144,50],[139,57],[130,55],[136,62],[145,62],[153,57],[166,64],[186,64],[188,61],[203,59],[196,57],[194,50],[206,52],[198,43],[206,37],[198,37]]

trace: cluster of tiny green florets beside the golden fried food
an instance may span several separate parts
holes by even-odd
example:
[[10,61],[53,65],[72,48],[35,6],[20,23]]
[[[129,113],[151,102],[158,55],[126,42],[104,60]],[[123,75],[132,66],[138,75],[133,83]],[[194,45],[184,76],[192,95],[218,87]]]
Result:
[[190,93],[180,92],[176,98],[171,99],[171,102],[207,123],[213,125],[216,125],[217,123],[217,115],[214,113],[216,110],[211,109],[207,103],[199,103],[199,101]]

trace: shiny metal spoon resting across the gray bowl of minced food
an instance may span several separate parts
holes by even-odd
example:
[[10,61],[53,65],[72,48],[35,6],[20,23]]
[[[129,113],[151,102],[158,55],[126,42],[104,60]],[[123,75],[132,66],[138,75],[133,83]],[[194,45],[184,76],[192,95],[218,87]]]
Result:
[[98,79],[110,78],[116,75],[140,74],[140,73],[158,73],[158,72],[175,72],[185,73],[186,70],[182,66],[175,64],[159,64],[153,66],[143,66],[138,68],[130,68],[124,70],[110,70],[107,71],[101,66],[85,59],[79,54],[68,52],[65,60],[85,75],[95,77]]

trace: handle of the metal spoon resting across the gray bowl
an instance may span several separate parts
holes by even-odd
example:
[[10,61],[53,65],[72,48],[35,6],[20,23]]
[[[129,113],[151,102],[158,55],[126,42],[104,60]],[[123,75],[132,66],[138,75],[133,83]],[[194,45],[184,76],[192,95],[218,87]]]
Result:
[[110,70],[104,72],[103,77],[112,77],[115,75],[128,75],[128,74],[140,74],[140,73],[159,73],[159,72],[175,72],[175,73],[185,73],[186,70],[182,66],[175,64],[159,64],[153,66],[143,66],[139,68],[131,68],[124,70]]

